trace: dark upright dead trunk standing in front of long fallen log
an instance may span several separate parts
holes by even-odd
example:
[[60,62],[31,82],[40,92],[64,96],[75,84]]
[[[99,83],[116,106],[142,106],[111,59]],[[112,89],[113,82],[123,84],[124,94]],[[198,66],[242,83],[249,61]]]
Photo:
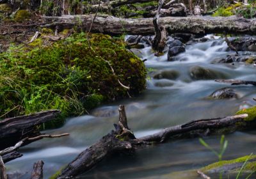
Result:
[[153,19],[154,29],[156,31],[155,37],[152,43],[152,49],[157,52],[163,52],[166,46],[167,33],[164,26],[159,25],[158,19],[160,17],[161,8],[163,6],[164,0],[159,0],[156,16]]

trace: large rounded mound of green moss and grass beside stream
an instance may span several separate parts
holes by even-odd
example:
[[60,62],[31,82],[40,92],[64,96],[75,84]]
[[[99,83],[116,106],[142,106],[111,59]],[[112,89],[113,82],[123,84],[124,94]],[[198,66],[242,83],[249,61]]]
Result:
[[145,89],[145,66],[122,40],[81,33],[49,46],[40,41],[0,54],[0,118],[46,109],[79,115]]

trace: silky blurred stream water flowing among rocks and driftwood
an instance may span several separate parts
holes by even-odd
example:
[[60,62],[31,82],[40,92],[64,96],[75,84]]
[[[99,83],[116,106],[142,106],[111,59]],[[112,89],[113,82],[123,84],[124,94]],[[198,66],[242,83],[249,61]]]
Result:
[[[145,65],[150,71],[149,75],[154,75],[157,71],[177,70],[179,77],[175,81],[148,78],[147,90],[139,97],[106,104],[95,109],[91,115],[67,119],[63,127],[45,131],[51,134],[68,132],[70,136],[42,139],[24,146],[19,150],[24,156],[6,164],[8,171],[28,171],[24,175],[24,178],[28,178],[33,163],[42,159],[45,162],[44,177],[49,178],[113,129],[113,123],[118,120],[119,104],[125,104],[129,127],[137,137],[190,120],[232,115],[241,108],[256,104],[252,100],[256,92],[253,86],[230,86],[212,80],[191,79],[189,69],[202,66],[222,72],[227,79],[255,80],[256,67],[253,65],[212,63],[216,58],[234,54],[228,51],[227,43],[217,36],[207,42],[187,45],[186,52],[180,54],[177,57],[180,60],[175,62],[166,61],[167,54],[157,58],[147,45],[136,51],[141,59],[148,59]],[[216,89],[225,87],[233,88],[239,97],[227,100],[205,98]],[[226,138],[228,148],[224,159],[234,159],[256,152],[254,131],[235,132]],[[218,149],[220,136],[206,137],[205,141]],[[216,160],[217,157],[205,149],[198,139],[182,139],[136,150],[133,155],[111,157],[81,178],[198,178],[189,173],[180,176],[173,172],[196,169]]]

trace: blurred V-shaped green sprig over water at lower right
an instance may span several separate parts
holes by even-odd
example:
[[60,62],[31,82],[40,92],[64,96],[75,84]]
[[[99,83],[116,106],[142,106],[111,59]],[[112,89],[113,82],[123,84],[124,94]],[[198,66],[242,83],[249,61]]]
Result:
[[200,138],[199,141],[203,146],[205,146],[205,148],[211,150],[211,152],[214,153],[218,157],[219,161],[222,160],[223,154],[224,154],[224,152],[225,152],[225,150],[227,149],[227,146],[228,146],[228,141],[225,140],[224,135],[222,135],[221,139],[220,139],[220,152],[217,152],[211,146],[209,146],[209,144],[205,143],[204,139]]

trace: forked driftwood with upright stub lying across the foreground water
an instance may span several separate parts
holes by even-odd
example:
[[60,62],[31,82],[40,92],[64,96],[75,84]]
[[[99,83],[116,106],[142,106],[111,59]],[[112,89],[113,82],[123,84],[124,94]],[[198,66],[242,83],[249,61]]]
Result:
[[184,125],[165,128],[156,134],[136,139],[127,125],[124,105],[120,105],[118,124],[114,124],[115,130],[112,130],[109,134],[102,137],[100,141],[80,153],[76,159],[70,162],[67,167],[61,171],[58,178],[68,178],[81,175],[98,164],[108,155],[132,152],[134,149],[141,146],[163,143],[172,137],[177,139],[185,136],[195,137],[216,133],[218,134],[218,132],[223,129],[228,131],[228,128],[230,128],[230,132],[234,132],[234,130],[241,129],[248,124],[248,121],[244,120],[247,116],[248,114],[241,114],[225,118],[191,121]]

